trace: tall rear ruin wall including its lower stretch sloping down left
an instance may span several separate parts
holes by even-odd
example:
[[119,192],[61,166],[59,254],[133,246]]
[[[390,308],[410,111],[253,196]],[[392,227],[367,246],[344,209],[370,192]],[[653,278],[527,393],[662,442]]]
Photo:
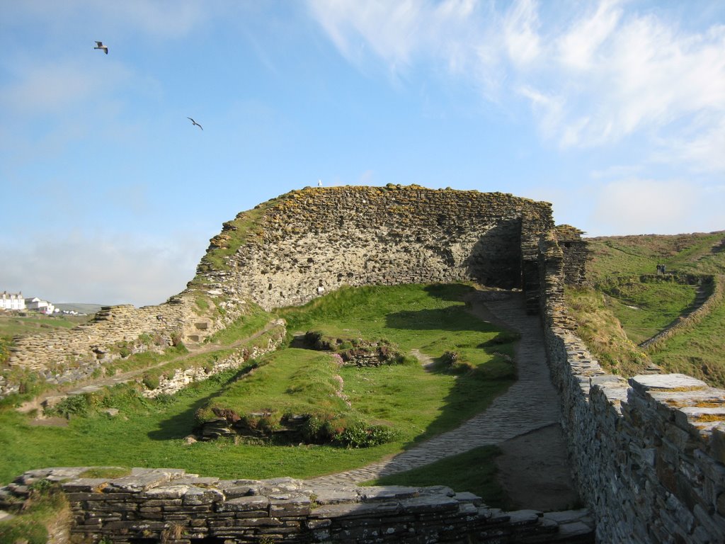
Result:
[[[135,353],[163,349],[173,337],[201,342],[240,316],[247,300],[265,309],[299,305],[343,285],[475,280],[524,287],[535,310],[536,240],[553,227],[547,202],[420,186],[307,188],[237,219],[169,302],[115,306],[76,329],[17,339],[10,365],[49,382],[78,381],[120,357],[119,343]],[[14,390],[0,376],[0,397]]]

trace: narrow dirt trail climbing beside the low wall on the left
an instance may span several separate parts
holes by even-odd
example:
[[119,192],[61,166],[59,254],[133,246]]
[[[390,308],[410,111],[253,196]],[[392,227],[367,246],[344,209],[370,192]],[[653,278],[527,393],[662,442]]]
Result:
[[72,384],[68,384],[65,387],[54,387],[51,390],[47,390],[43,392],[41,395],[38,395],[38,397],[33,398],[33,400],[28,400],[25,403],[22,403],[20,407],[17,408],[17,411],[21,413],[28,413],[33,410],[38,411],[38,416],[36,417],[36,424],[43,424],[43,421],[47,421],[49,424],[57,425],[59,423],[58,418],[48,418],[45,419],[42,416],[42,405],[43,402],[50,397],[56,397],[56,396],[70,396],[70,395],[82,395],[83,393],[88,392],[94,392],[97,390],[100,390],[104,387],[113,387],[114,385],[118,384],[125,384],[127,382],[130,382],[131,380],[137,378],[138,376],[143,375],[144,373],[148,372],[149,370],[153,370],[154,368],[159,368],[161,366],[165,366],[172,363],[179,363],[183,360],[188,360],[192,357],[196,357],[197,355],[205,355],[207,353],[213,353],[215,351],[220,350],[233,350],[236,347],[240,347],[241,345],[244,345],[247,342],[250,342],[254,339],[257,339],[258,337],[262,336],[262,334],[265,334],[266,332],[270,331],[276,326],[277,321],[270,321],[269,323],[265,324],[262,329],[254,332],[254,334],[250,334],[248,337],[240,338],[232,342],[228,345],[222,345],[218,343],[209,343],[209,344],[199,344],[199,345],[191,345],[187,346],[188,353],[184,353],[183,355],[179,355],[176,358],[164,360],[161,363],[157,363],[152,366],[144,366],[144,368],[135,368],[133,370],[130,370],[128,372],[123,372],[119,374],[115,374],[113,376],[104,376],[98,379],[90,379],[90,380],[84,380],[83,382],[74,382]]

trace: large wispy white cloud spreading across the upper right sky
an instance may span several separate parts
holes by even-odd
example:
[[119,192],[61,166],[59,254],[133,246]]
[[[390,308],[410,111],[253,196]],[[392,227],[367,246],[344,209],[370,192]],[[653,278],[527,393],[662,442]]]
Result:
[[[486,99],[523,98],[542,137],[564,149],[640,133],[647,158],[666,151],[671,160],[724,168],[701,135],[716,136],[725,123],[725,25],[692,30],[668,12],[617,0],[571,2],[557,15],[535,0],[502,8],[428,0],[310,6],[347,58],[361,62],[369,48],[393,71],[439,62],[467,74]],[[674,147],[682,152],[671,154]]]

